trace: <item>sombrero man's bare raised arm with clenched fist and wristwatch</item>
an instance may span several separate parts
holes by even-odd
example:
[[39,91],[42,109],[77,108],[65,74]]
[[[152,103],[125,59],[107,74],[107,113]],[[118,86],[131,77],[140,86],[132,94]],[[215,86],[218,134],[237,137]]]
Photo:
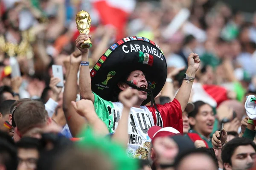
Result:
[[[189,77],[195,77],[195,72],[198,70],[201,63],[198,54],[195,54],[195,53],[189,54],[188,63],[189,63],[189,67],[186,71],[186,75]],[[189,81],[187,83],[187,80],[184,79],[178,93],[175,96],[175,99],[177,99],[180,102],[182,111],[185,110],[186,105],[189,102],[189,96],[191,93],[192,85],[193,85],[193,82]]]

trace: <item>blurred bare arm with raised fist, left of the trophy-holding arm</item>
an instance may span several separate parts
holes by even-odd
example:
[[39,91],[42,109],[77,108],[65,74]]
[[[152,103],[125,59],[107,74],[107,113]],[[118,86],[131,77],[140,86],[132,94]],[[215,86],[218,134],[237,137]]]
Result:
[[[72,136],[76,136],[86,123],[71,105],[71,101],[76,101],[77,95],[77,73],[81,62],[81,56],[76,52],[70,55],[70,69],[67,73],[64,94],[63,94],[63,111],[70,128]],[[77,57],[79,56],[79,57]]]

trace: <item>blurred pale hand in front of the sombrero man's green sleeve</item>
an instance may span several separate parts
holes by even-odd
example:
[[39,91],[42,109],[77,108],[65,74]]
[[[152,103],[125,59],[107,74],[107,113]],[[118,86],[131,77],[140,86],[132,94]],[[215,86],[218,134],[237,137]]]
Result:
[[81,116],[87,117],[88,114],[95,113],[94,105],[91,100],[88,99],[81,99],[77,102],[72,101],[71,104],[73,108],[76,110],[77,113]]

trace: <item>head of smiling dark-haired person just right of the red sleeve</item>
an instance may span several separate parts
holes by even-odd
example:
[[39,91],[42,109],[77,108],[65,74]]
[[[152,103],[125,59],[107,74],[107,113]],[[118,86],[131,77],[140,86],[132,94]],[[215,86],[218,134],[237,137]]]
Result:
[[211,133],[214,126],[215,116],[212,107],[202,101],[194,103],[195,108],[189,113],[189,124],[191,130],[189,133],[198,133],[208,147],[212,147]]

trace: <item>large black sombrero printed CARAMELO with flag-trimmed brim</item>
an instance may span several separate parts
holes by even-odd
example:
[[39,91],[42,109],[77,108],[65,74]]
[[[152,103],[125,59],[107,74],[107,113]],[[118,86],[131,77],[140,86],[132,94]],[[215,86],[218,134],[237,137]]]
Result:
[[[137,88],[126,77],[135,70],[145,74],[148,90]],[[102,99],[116,102],[117,83],[125,81],[132,88],[147,91],[148,97],[142,105],[159,94],[166,81],[167,65],[163,51],[144,37],[126,37],[114,43],[90,71],[92,91]]]

